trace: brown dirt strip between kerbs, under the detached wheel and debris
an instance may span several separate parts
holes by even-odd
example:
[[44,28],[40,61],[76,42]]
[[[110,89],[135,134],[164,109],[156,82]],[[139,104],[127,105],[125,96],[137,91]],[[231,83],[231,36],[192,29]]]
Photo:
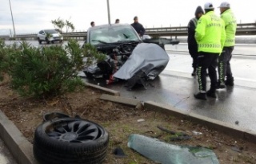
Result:
[[[130,150],[127,142],[131,134],[146,135],[177,145],[204,146],[214,150],[219,162],[224,164],[256,163],[256,146],[253,143],[223,135],[186,119],[148,111],[146,108],[135,109],[99,100],[103,92],[93,88],[85,88],[79,92],[45,101],[22,98],[6,83],[0,85],[0,91],[0,109],[31,143],[33,143],[34,130],[42,123],[42,116],[50,111],[61,111],[70,116],[79,115],[106,128],[110,135],[110,144],[104,163],[154,163],[134,150]],[[144,121],[138,122],[138,119],[144,119]],[[180,134],[186,133],[192,138],[175,140],[177,136],[161,131],[157,126]],[[202,135],[195,135],[192,131],[200,132]],[[127,158],[114,156],[112,152],[118,146],[122,147]]]

